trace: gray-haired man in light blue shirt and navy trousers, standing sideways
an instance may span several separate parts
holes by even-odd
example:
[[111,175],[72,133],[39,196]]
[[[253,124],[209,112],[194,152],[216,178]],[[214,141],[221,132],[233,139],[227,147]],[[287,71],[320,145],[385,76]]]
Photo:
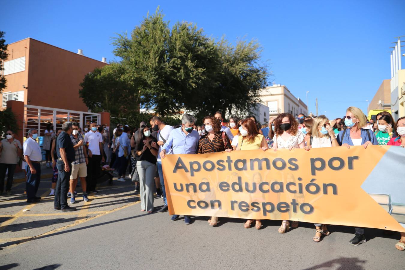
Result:
[[27,140],[23,144],[24,158],[27,163],[27,203],[39,202],[41,198],[36,197],[39,183],[41,181],[42,153],[36,138],[38,131],[35,128],[28,130]]

